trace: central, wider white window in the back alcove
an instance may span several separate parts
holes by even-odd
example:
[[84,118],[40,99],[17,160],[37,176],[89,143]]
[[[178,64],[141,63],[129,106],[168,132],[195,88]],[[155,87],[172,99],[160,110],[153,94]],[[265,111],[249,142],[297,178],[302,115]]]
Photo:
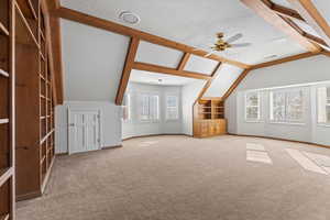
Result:
[[143,94],[140,99],[140,120],[157,121],[160,119],[160,97]]

